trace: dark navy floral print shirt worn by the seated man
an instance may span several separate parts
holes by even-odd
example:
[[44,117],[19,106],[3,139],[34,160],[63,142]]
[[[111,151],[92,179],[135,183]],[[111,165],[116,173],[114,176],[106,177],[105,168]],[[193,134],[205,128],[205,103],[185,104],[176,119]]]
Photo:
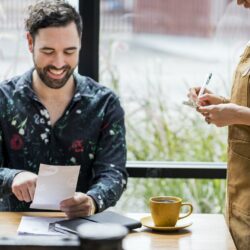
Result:
[[33,70],[0,84],[0,210],[29,210],[11,184],[21,171],[37,174],[40,163],[81,165],[76,191],[90,195],[98,212],[115,205],[127,182],[124,111],[117,96],[74,73],[75,94],[52,127],[32,89]]

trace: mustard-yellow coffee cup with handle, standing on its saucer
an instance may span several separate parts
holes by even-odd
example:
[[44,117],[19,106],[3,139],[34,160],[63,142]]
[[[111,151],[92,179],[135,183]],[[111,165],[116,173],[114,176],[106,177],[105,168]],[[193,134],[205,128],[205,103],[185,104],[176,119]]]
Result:
[[[191,203],[182,202],[182,199],[175,196],[157,196],[149,200],[151,216],[157,227],[174,227],[180,219],[188,217],[193,212]],[[182,206],[188,206],[189,211],[180,216]]]

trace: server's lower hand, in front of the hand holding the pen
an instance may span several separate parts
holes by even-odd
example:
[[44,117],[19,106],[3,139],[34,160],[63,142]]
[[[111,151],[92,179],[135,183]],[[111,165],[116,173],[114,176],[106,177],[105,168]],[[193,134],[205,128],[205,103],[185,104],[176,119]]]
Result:
[[213,123],[217,127],[229,126],[239,123],[240,106],[228,103],[199,107],[198,111],[205,117],[205,121]]

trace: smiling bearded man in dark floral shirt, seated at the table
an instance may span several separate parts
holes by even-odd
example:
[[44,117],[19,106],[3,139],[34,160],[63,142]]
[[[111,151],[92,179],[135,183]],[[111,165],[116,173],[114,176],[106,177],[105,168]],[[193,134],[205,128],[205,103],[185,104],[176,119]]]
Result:
[[112,91],[73,73],[82,23],[71,5],[40,1],[25,24],[34,68],[0,85],[0,210],[29,210],[45,163],[81,165],[77,192],[60,204],[68,217],[101,212],[127,182],[123,109]]

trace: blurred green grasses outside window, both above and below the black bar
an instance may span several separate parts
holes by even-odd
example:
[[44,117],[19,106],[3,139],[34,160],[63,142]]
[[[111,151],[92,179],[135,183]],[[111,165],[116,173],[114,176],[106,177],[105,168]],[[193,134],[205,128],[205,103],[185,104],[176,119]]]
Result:
[[[180,106],[172,113],[160,98],[145,102],[140,115],[127,118],[129,160],[226,161],[226,129],[204,123],[196,112],[187,115],[189,107]],[[221,213],[225,185],[225,180],[130,178],[117,209],[144,212],[150,197],[175,195],[192,202],[195,212]]]

